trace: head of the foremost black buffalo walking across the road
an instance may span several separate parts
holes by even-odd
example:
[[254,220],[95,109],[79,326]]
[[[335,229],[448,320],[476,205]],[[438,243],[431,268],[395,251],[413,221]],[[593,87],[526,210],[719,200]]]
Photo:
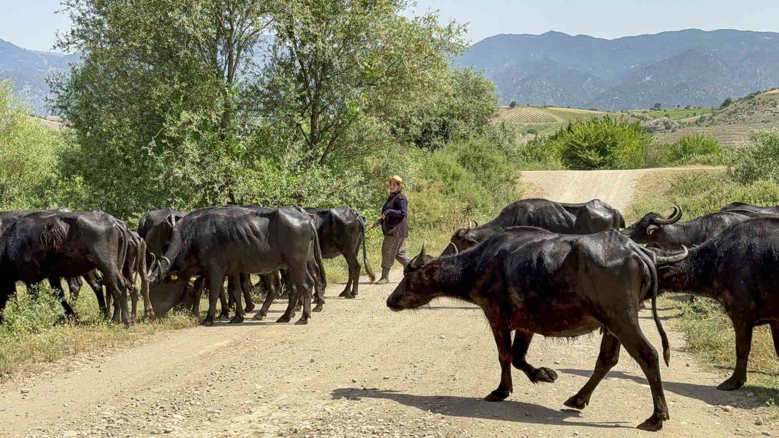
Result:
[[387,307],[394,312],[416,309],[442,294],[442,291],[438,291],[435,287],[433,276],[441,267],[443,260],[426,255],[426,246],[427,242],[424,242],[419,255],[406,265],[403,270],[403,280],[387,298]]

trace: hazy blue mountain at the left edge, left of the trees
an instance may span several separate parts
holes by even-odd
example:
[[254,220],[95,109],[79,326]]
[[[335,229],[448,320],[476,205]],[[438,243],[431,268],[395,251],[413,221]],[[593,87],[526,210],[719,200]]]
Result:
[[0,79],[11,79],[34,113],[48,115],[44,100],[49,93],[46,77],[58,70],[68,69],[79,55],[61,55],[19,48],[0,40]]

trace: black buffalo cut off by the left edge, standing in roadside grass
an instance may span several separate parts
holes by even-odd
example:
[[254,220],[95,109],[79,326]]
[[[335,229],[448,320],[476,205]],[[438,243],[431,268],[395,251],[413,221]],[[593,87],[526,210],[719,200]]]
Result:
[[[0,310],[16,291],[16,281],[28,288],[48,279],[65,309],[75,317],[62,291],[62,277],[99,270],[115,298],[131,286],[122,276],[129,236],[115,217],[101,211],[83,213],[38,211],[19,217],[0,238]],[[101,292],[102,293],[102,292]],[[122,320],[129,325],[127,302]]]

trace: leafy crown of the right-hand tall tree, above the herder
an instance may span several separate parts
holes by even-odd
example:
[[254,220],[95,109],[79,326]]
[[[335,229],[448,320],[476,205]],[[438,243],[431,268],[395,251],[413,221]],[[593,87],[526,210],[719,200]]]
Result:
[[401,15],[397,0],[287,0],[274,14],[257,108],[306,145],[308,162],[367,154],[386,121],[446,87],[464,26]]

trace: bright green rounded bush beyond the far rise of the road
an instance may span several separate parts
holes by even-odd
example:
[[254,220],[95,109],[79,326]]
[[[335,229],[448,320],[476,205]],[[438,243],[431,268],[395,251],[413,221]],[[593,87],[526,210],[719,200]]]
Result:
[[576,170],[640,168],[652,136],[639,122],[590,119],[570,125],[546,141],[562,164]]

